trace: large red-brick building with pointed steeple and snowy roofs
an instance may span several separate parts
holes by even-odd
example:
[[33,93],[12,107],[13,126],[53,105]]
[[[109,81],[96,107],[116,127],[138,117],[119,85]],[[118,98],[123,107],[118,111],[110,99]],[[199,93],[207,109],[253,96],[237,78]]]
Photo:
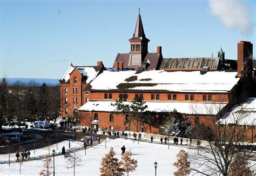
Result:
[[[120,93],[128,95],[127,103],[142,93],[156,123],[152,128],[142,125],[139,130],[157,133],[173,109],[189,117],[192,125],[211,126],[209,118],[217,120],[225,107],[239,103],[239,97],[255,93],[250,42],[238,43],[237,61],[225,59],[222,49],[215,58],[163,58],[161,46],[156,53],[147,51],[150,40],[140,13],[129,41],[130,52],[117,54],[114,71],[106,70],[102,62],[91,67],[70,66],[60,80],[62,117],[77,116],[79,111],[81,125],[90,126],[91,120],[97,119],[102,121],[99,128],[123,130],[123,117],[114,113],[111,103]],[[134,124],[126,124],[124,130],[135,129]]]

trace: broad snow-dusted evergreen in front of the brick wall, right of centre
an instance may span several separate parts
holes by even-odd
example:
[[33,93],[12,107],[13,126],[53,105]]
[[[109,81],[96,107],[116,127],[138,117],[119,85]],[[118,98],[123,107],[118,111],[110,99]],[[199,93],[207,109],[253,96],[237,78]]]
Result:
[[164,125],[160,127],[161,134],[170,136],[183,136],[186,130],[188,133],[191,132],[191,121],[188,117],[184,119],[176,109],[171,112]]

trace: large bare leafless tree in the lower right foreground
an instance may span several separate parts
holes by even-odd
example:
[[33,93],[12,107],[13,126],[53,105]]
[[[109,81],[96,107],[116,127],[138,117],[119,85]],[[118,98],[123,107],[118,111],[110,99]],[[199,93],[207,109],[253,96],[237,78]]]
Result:
[[[246,106],[247,104],[244,103],[235,106],[232,110],[225,109],[220,103],[197,107],[197,110],[202,112],[200,114],[207,113],[206,125],[211,126],[211,128],[204,128],[203,132],[210,133],[208,130],[211,129],[214,135],[212,139],[205,139],[207,146],[200,146],[200,153],[191,155],[193,172],[205,175],[228,175],[230,173],[230,164],[239,152],[237,149],[240,142],[246,141],[247,132],[254,124],[251,110]],[[250,152],[246,154],[249,158],[252,157]]]

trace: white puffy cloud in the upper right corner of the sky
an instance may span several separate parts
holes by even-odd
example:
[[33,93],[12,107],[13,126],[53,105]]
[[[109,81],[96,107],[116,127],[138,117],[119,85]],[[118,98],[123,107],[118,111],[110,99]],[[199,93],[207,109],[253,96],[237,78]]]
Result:
[[238,29],[241,33],[252,31],[248,5],[241,0],[209,0],[209,3],[212,14],[228,29]]

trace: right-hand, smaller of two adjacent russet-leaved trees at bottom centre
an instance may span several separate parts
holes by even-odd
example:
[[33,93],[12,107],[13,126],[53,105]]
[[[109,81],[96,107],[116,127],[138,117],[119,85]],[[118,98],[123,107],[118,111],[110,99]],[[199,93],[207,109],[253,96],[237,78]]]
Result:
[[129,175],[129,172],[135,171],[136,168],[138,167],[137,159],[132,159],[131,156],[132,156],[131,150],[125,152],[122,155],[122,166],[123,166],[124,172],[127,172],[127,176]]

